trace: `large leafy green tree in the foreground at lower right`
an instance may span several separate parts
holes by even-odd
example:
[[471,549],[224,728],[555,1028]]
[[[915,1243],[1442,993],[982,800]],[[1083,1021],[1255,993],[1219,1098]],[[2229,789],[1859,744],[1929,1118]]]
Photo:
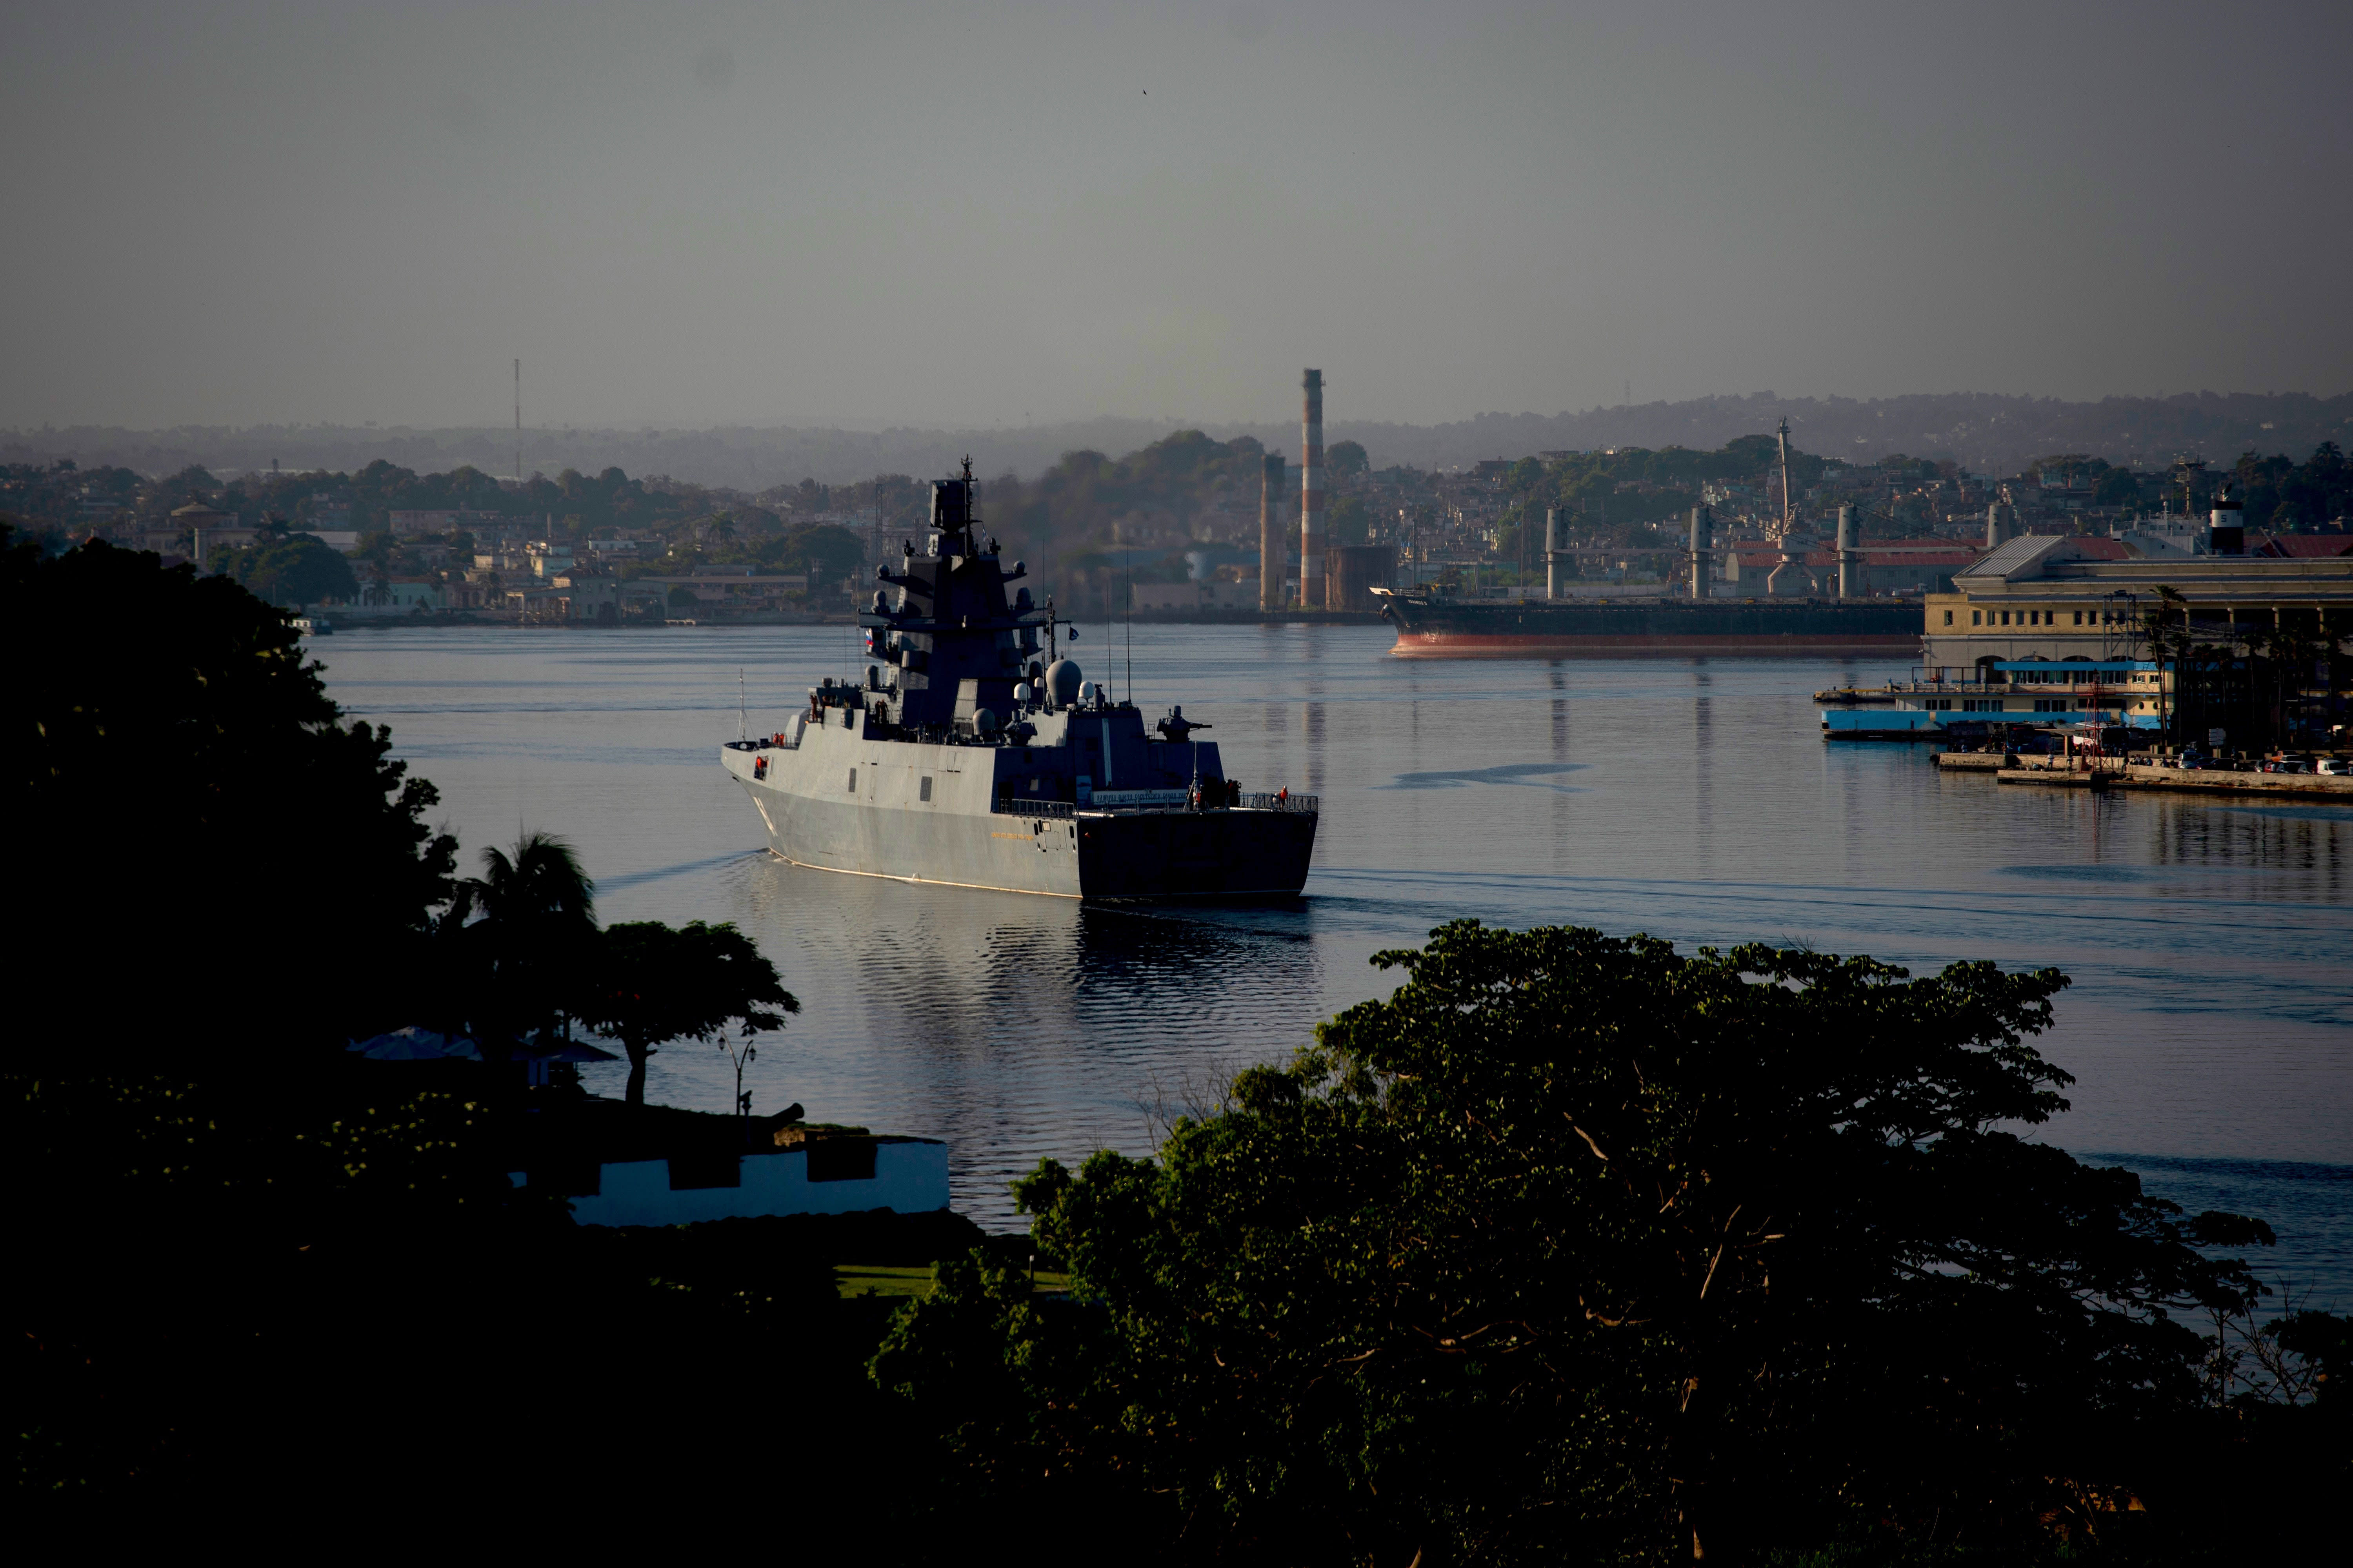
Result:
[[1016,1187],[1089,1312],[911,1309],[875,1375],[967,1483],[1275,1561],[2038,1540],[2200,1408],[2179,1314],[2252,1298],[2198,1248],[2261,1225],[2017,1131],[2066,1105],[2054,971],[1475,922],[1374,961],[1160,1159]]

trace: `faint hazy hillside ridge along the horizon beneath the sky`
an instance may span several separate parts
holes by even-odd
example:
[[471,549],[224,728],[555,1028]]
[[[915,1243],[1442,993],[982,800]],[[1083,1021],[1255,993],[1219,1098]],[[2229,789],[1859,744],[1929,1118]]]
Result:
[[[2179,397],[1995,397],[1988,393],[1920,393],[1908,397],[1701,397],[1581,414],[1480,414],[1449,425],[1379,425],[1344,418],[1334,404],[1327,437],[1365,444],[1374,468],[1407,463],[1452,468],[1480,458],[1525,456],[1562,447],[1699,447],[1715,449],[1737,435],[1772,430],[1788,418],[1795,444],[1826,456],[1880,458],[1889,451],[1951,458],[1972,470],[2012,473],[2028,458],[2082,451],[2137,468],[2177,454],[2228,463],[2240,451],[2285,451],[2301,461],[2334,440],[2353,444],[2353,393],[2184,393]],[[1219,440],[1254,435],[1278,451],[1299,442],[1299,425],[1205,423]],[[974,430],[826,430],[722,425],[708,430],[525,430],[522,470],[548,475],[576,468],[621,468],[631,475],[671,475],[696,484],[762,491],[805,477],[849,484],[878,473],[944,475],[967,451],[984,475],[1007,470],[1035,477],[1064,451],[1106,456],[1134,451],[1169,433],[1165,421],[1089,418],[1059,425]],[[355,470],[374,458],[447,473],[459,463],[506,475],[515,465],[513,430],[367,430],[348,425],[254,425],[245,430],[181,425],[176,430],[59,428],[0,433],[0,461],[82,465],[120,463],[148,475],[188,463],[212,470],[285,468]]]

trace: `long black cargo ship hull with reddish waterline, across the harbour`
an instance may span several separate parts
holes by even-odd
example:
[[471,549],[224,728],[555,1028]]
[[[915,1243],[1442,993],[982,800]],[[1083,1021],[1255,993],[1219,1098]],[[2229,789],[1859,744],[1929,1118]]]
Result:
[[1386,595],[1398,658],[1915,658],[1918,604],[1457,604]]

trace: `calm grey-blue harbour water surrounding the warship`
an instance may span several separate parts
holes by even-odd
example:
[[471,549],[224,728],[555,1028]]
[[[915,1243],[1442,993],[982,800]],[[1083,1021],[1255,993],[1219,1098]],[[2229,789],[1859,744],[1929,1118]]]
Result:
[[[1080,658],[1113,675],[1087,628]],[[1214,724],[1247,788],[1325,799],[1306,898],[1094,910],[781,865],[713,748],[856,661],[849,628],[391,630],[315,644],[393,726],[468,860],[572,839],[605,919],[732,919],[802,1013],[755,1110],[948,1138],[958,1208],[1012,1227],[1038,1157],[1146,1152],[1158,1105],[1384,997],[1367,957],[1461,914],[1934,969],[2057,964],[2078,1077],[2045,1138],[2191,1208],[2264,1213],[2297,1293],[2353,1305],[2353,809],[2000,790],[1925,750],[1824,745],[1868,661],[1386,656],[1379,628],[1139,628],[1134,693]],[[1092,646],[1092,651],[1089,651]],[[1113,654],[1111,661],[1104,656]],[[619,1093],[614,1070],[591,1086]],[[649,1095],[725,1110],[715,1048]]]

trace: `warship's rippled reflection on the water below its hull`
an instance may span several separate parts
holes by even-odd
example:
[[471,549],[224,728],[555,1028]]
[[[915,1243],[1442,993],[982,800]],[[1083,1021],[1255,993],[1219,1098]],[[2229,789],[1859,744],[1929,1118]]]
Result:
[[1042,1154],[1144,1152],[1155,1081],[1287,1053],[1325,990],[1304,900],[1092,907],[758,856],[736,919],[802,1004],[769,1098],[948,1138],[958,1204],[993,1222]]

